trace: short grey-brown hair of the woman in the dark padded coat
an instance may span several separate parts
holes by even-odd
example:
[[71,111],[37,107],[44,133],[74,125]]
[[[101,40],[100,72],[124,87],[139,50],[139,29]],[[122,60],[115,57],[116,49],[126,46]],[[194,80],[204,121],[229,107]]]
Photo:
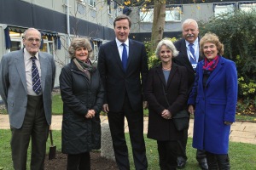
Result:
[[93,50],[90,45],[90,41],[85,37],[75,37],[71,42],[68,53],[71,59],[75,58],[75,53],[77,48],[86,48],[88,50],[88,58],[90,59],[93,56]]

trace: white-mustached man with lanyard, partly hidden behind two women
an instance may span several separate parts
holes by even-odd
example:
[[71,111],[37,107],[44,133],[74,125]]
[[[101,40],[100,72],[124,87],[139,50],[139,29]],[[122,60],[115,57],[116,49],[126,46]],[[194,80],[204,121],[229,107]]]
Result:
[[[195,80],[195,68],[202,57],[199,51],[200,38],[198,37],[199,29],[197,22],[193,19],[187,19],[183,22],[183,38],[174,43],[179,54],[174,58],[177,65],[183,65],[187,68],[189,78],[188,96]],[[180,141],[180,150],[177,157],[177,167],[183,168],[186,165],[186,145],[188,140],[188,129],[183,131],[183,140]],[[196,151],[196,160],[201,169],[208,169],[206,153],[204,150]]]

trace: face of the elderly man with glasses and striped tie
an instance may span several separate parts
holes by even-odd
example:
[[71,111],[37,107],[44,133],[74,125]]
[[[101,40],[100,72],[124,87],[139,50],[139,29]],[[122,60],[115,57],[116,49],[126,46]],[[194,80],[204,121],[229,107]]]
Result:
[[41,34],[36,29],[31,29],[26,31],[26,35],[23,38],[23,44],[26,48],[26,51],[34,56],[38,53],[41,42]]

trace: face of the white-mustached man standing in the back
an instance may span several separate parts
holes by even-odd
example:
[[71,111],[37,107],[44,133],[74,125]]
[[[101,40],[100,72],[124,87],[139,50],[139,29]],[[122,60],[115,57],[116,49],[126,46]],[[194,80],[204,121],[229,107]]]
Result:
[[199,30],[194,22],[186,23],[183,25],[183,37],[189,43],[194,43],[198,37]]

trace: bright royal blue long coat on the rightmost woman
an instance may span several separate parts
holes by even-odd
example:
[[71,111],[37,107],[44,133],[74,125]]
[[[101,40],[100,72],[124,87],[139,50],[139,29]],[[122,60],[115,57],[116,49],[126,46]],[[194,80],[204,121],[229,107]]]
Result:
[[236,65],[221,57],[203,87],[204,61],[196,68],[195,84],[188,104],[195,105],[193,147],[213,154],[227,154],[230,125],[235,122],[237,101]]

